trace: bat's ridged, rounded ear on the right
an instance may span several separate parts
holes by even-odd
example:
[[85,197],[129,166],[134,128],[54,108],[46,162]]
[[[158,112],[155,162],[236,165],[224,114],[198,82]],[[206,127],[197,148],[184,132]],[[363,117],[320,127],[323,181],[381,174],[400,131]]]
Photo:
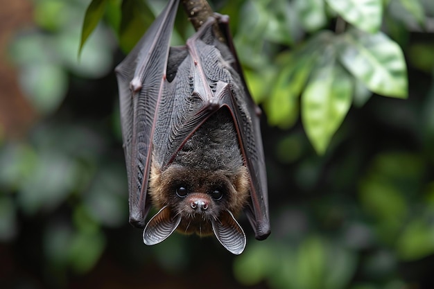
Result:
[[235,255],[243,253],[245,234],[243,228],[236,222],[234,215],[230,211],[223,211],[218,220],[213,220],[212,229],[217,240],[229,252]]

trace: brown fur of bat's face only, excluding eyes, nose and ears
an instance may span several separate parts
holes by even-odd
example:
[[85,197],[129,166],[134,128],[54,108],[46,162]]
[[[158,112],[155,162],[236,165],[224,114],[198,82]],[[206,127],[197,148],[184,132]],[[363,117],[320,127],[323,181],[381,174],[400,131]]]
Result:
[[[218,219],[221,211],[237,214],[244,207],[249,196],[249,177],[245,166],[239,166],[236,173],[225,170],[200,170],[185,168],[177,164],[163,172],[153,164],[150,170],[149,194],[155,207],[170,207],[173,216],[181,214],[178,231],[200,236],[212,234],[211,219]],[[180,198],[176,189],[185,186],[189,194]],[[209,193],[215,189],[223,191],[220,200],[213,200]],[[209,204],[205,211],[191,208],[191,198],[200,198]]]

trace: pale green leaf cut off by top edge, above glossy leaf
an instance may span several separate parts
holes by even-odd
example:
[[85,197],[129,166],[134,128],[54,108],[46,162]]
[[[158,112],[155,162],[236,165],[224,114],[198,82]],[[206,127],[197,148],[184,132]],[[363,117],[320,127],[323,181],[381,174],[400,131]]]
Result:
[[376,33],[381,27],[381,0],[326,0],[329,6],[357,28]]

